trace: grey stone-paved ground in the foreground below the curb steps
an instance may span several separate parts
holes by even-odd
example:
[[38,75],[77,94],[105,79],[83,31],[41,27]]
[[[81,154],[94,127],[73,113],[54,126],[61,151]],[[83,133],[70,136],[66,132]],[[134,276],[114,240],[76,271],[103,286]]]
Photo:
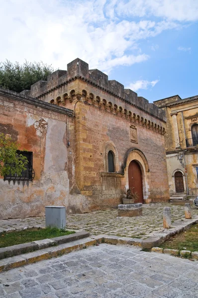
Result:
[[198,262],[100,244],[0,274],[0,298],[197,298]]

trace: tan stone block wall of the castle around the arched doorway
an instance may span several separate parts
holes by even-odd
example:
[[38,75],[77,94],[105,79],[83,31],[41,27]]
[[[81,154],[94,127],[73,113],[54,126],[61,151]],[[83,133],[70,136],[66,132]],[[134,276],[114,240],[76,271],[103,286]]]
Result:
[[[120,203],[122,192],[128,188],[127,166],[133,159],[142,169],[144,201],[169,200],[164,136],[141,121],[132,123],[137,129],[137,143],[131,142],[129,117],[105,110],[104,105],[79,102],[76,106],[76,182],[81,193],[88,196],[91,210]],[[109,145],[115,149],[118,173],[107,173],[105,168],[105,148]],[[124,169],[129,149],[137,150],[128,155]]]

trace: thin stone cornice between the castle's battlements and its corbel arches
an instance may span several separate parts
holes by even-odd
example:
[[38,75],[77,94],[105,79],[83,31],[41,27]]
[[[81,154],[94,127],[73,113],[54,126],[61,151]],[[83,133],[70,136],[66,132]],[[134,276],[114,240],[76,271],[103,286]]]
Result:
[[64,85],[67,85],[67,84],[71,83],[72,81],[74,81],[74,80],[76,80],[76,79],[81,79],[81,80],[85,81],[86,83],[88,83],[88,84],[90,84],[90,85],[92,85],[92,86],[98,88],[99,90],[102,90],[102,91],[104,91],[104,92],[106,92],[106,93],[108,93],[108,94],[110,94],[110,95],[112,95],[112,96],[114,96],[114,97],[116,97],[116,98],[118,98],[118,99],[120,99],[120,100],[126,102],[127,104],[129,104],[129,105],[135,107],[136,109],[138,109],[138,110],[144,112],[145,114],[150,115],[150,116],[154,117],[155,119],[158,119],[158,120],[160,120],[160,121],[166,123],[166,121],[165,121],[164,119],[162,119],[162,118],[160,118],[160,117],[157,117],[156,115],[154,115],[154,114],[152,114],[152,113],[149,113],[147,110],[141,108],[140,106],[138,106],[138,105],[136,105],[136,104],[131,103],[130,101],[126,100],[126,99],[123,98],[123,97],[118,96],[117,94],[113,93],[113,92],[110,91],[109,89],[106,89],[106,88],[103,88],[103,87],[99,86],[97,83],[95,83],[95,82],[92,81],[91,79],[85,78],[85,77],[80,76],[80,75],[71,77],[70,79],[66,80],[65,82],[62,82],[62,83],[60,83],[60,84],[57,84],[57,85],[54,86],[53,88],[44,91],[43,93],[41,93],[39,96],[36,96],[35,98],[42,98],[44,95],[49,94],[50,92],[52,92],[52,91],[54,91],[54,90],[57,90],[58,88],[60,88],[60,87],[62,87],[62,86],[64,86]]

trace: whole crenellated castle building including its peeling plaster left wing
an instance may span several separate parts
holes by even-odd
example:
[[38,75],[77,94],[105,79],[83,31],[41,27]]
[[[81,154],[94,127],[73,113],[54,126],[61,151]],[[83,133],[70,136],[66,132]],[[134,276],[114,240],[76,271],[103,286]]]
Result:
[[165,111],[80,59],[31,90],[0,88],[0,132],[29,160],[0,178],[0,218],[114,208],[128,188],[142,203],[169,201],[165,126]]

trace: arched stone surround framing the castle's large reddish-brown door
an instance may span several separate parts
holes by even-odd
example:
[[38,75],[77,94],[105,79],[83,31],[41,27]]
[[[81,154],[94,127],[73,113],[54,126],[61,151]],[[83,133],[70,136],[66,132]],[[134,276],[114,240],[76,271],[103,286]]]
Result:
[[138,162],[141,171],[142,171],[142,185],[143,185],[143,199],[145,203],[150,203],[151,199],[149,199],[149,189],[150,189],[150,170],[148,161],[144,155],[144,153],[136,148],[129,149],[124,157],[124,178],[125,178],[125,189],[129,188],[128,181],[128,166],[132,160]]

